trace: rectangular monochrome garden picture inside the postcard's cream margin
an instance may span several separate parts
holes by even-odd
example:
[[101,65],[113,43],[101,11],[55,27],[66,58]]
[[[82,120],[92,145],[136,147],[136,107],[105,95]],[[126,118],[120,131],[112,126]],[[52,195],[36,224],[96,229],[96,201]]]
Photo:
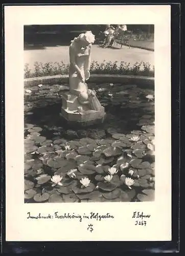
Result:
[[153,201],[154,25],[25,25],[24,65],[25,203]]

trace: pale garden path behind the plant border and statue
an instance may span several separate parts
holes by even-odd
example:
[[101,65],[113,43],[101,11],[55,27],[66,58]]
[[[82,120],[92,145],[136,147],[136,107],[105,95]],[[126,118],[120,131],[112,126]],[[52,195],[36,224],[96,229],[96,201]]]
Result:
[[[123,46],[122,49],[118,48],[102,49],[98,45],[92,46],[92,60],[103,62],[103,60],[114,62],[117,60],[130,62],[133,65],[135,62],[149,62],[151,66],[154,65],[154,52],[138,49],[128,48]],[[30,69],[34,68],[34,62],[60,62],[69,63],[68,46],[55,46],[55,47],[40,47],[32,48],[24,51],[24,62],[29,64]]]

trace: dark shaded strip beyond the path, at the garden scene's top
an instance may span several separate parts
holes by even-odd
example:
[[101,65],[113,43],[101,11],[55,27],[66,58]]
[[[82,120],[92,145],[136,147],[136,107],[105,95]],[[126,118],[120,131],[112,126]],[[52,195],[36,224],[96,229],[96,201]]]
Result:
[[[116,24],[112,24],[116,28]],[[91,30],[97,37],[106,25],[27,25],[24,26],[24,44],[68,45],[75,36]],[[154,33],[154,25],[127,25],[133,33]]]

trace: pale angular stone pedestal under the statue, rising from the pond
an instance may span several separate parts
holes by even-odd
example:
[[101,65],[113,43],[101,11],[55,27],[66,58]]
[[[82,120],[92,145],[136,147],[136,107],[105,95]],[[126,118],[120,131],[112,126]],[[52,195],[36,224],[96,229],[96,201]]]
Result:
[[83,126],[102,123],[105,115],[103,106],[99,111],[90,110],[88,104],[82,105],[79,103],[78,96],[70,92],[63,93],[62,95],[61,116],[69,123],[78,123]]

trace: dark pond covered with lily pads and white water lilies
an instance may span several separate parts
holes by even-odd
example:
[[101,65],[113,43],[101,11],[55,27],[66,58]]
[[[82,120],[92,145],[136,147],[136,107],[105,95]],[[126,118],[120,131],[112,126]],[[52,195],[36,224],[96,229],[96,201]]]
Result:
[[67,84],[25,88],[25,203],[154,200],[154,90],[88,86],[106,112],[89,127],[60,117]]

